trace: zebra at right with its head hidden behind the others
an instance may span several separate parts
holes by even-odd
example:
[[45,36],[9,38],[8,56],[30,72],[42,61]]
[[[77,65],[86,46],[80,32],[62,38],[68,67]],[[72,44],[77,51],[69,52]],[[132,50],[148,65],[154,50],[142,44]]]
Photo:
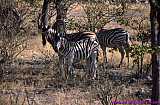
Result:
[[[119,52],[121,53],[121,60],[119,63],[120,67],[122,65],[124,55],[129,57],[129,34],[122,28],[115,28],[115,29],[101,29],[97,32],[97,39],[103,50],[104,61],[103,63],[108,63],[107,58],[107,47],[109,48],[118,48]],[[129,58],[128,58],[129,63]]]

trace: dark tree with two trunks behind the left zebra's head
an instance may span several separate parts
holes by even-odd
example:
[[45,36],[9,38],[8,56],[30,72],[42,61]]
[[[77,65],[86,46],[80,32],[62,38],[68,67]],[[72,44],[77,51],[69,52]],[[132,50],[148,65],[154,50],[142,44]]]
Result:
[[44,0],[43,7],[42,7],[42,17],[41,17],[41,24],[39,28],[42,30],[42,43],[43,45],[46,44],[45,40],[45,31],[48,28],[48,9],[49,3],[54,4],[54,8],[56,10],[56,22],[52,25],[52,28],[56,30],[57,33],[64,34],[65,33],[65,18],[67,14],[67,9],[74,3],[73,0]]

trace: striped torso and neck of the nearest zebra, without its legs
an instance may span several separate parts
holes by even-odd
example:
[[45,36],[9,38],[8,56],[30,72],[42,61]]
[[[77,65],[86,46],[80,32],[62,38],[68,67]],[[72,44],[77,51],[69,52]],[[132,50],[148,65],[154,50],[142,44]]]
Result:
[[74,42],[67,40],[66,38],[62,38],[62,40],[58,46],[59,53],[64,57],[73,54],[76,61],[87,59],[93,51],[98,51],[99,49],[99,43],[90,38]]

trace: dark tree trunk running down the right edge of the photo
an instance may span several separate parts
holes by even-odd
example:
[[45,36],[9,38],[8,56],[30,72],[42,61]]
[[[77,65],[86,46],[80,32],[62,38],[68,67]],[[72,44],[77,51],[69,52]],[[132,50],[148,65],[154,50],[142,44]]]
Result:
[[[153,0],[150,0],[150,21],[151,21],[151,42],[152,42],[152,48],[160,46],[160,11],[156,7],[156,4]],[[156,22],[158,22],[158,28],[156,25]],[[158,31],[158,33],[157,33]],[[154,52],[152,54],[152,105],[160,105],[159,99],[160,99],[160,52]],[[156,104],[155,104],[155,103]]]

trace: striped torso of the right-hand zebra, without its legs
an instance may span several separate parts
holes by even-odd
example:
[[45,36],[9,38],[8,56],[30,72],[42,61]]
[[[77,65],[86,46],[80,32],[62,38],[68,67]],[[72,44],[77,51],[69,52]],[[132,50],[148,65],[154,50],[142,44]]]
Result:
[[97,38],[101,46],[116,48],[119,46],[128,46],[129,35],[122,28],[102,29],[97,33]]

